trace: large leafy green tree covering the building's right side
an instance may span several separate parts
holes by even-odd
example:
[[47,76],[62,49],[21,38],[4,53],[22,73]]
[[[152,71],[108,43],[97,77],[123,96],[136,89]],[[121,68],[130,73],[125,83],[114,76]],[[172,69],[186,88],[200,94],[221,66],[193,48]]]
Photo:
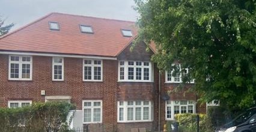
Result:
[[256,99],[255,0],[135,0],[139,35],[154,41],[153,61],[161,70],[189,68],[201,100],[231,108]]

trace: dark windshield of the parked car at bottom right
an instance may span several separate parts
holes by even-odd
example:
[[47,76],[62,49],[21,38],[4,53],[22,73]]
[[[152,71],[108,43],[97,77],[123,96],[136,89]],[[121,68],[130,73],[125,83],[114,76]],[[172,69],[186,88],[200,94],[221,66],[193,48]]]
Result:
[[233,125],[239,125],[243,122],[247,121],[249,118],[251,118],[252,115],[256,113],[256,109],[247,110],[245,113],[242,113],[241,115],[237,116],[232,122]]

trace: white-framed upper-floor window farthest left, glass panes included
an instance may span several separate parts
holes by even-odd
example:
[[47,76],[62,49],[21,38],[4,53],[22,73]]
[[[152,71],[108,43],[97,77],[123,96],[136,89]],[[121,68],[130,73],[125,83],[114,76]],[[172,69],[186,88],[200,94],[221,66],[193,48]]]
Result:
[[32,56],[9,55],[9,80],[32,80]]

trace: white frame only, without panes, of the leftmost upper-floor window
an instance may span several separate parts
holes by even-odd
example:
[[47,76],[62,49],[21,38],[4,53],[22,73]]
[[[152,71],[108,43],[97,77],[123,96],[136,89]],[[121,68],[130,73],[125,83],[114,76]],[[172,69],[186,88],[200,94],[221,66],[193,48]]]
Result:
[[[11,56],[17,56],[19,57],[19,61],[11,61]],[[30,61],[22,61],[22,57],[29,57]],[[32,67],[33,67],[33,63],[32,63],[32,56],[25,56],[25,55],[9,55],[9,68],[8,68],[8,80],[32,80]],[[19,64],[19,78],[11,78],[11,64]],[[22,64],[30,64],[30,78],[29,79],[24,79],[22,78]]]

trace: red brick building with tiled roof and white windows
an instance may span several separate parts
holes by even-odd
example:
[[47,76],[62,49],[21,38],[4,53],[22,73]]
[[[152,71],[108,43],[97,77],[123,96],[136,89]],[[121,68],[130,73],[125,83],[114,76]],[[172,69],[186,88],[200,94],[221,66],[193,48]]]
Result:
[[0,106],[68,101],[77,106],[74,126],[91,131],[156,131],[175,113],[206,112],[193,93],[166,95],[180,74],[159,77],[153,45],[130,51],[136,34],[134,22],[51,13],[4,35]]

